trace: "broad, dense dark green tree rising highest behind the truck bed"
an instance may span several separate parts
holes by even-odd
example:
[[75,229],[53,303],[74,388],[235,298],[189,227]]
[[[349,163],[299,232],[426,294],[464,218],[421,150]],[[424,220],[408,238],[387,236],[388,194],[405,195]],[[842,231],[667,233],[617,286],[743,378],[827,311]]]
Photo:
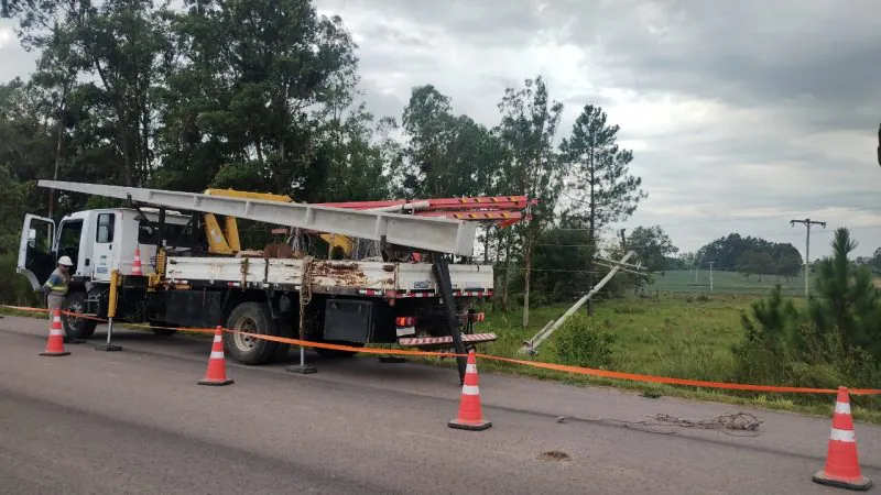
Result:
[[307,0],[186,6],[168,15],[173,62],[160,90],[166,125],[157,141],[175,160],[157,178],[188,188],[207,177],[216,187],[323,199],[342,156],[328,146],[361,140],[355,128],[369,120],[357,106],[341,111],[357,85],[341,19],[318,15]]

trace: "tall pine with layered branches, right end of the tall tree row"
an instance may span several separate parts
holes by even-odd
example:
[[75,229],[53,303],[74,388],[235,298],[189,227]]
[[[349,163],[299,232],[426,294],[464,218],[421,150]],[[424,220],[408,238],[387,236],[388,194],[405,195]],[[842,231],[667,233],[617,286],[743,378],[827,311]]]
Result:
[[[572,199],[576,201],[575,215],[587,219],[588,235],[595,245],[607,224],[629,218],[640,200],[648,197],[640,188],[642,179],[629,172],[633,153],[617,144],[619,130],[618,125],[607,124],[600,107],[587,105],[576,119],[572,135],[559,146]],[[594,272],[592,263],[588,268]],[[592,312],[592,305],[589,309]]]

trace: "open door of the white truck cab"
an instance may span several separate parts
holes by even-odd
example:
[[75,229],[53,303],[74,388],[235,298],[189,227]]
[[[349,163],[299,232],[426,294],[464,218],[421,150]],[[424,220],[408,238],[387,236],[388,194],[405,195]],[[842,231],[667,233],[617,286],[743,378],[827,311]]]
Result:
[[31,287],[40,290],[57,264],[52,251],[55,237],[55,222],[50,218],[25,215],[19,243],[17,271],[28,277]]

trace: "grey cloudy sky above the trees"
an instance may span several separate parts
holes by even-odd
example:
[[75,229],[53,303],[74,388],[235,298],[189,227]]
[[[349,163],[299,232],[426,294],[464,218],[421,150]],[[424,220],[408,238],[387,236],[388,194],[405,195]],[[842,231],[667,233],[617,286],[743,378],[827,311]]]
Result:
[[[875,0],[318,0],[359,44],[367,101],[400,117],[434,84],[492,125],[504,88],[542,75],[559,138],[600,105],[649,198],[623,227],[660,224],[683,251],[729,232],[812,258],[848,227],[881,246],[881,2]],[[0,80],[34,56],[0,23]],[[511,191],[515,194],[518,191]]]

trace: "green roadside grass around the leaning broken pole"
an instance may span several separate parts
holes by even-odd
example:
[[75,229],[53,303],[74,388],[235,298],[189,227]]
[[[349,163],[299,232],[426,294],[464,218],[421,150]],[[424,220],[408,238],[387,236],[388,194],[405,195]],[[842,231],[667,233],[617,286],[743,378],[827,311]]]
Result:
[[[761,293],[761,287],[757,287]],[[660,297],[627,298],[596,304],[598,324],[617,337],[609,370],[678,378],[730,382],[735,371],[732,348],[740,342],[743,329],[741,311],[749,314],[758,296],[716,294],[713,296],[688,294],[661,294]],[[802,298],[794,298],[802,306]],[[535,308],[530,326],[521,324],[521,312],[489,312],[480,331],[493,331],[498,340],[486,349],[488,354],[520,358],[543,362],[559,362],[545,341],[535,358],[516,353],[522,342],[535,334],[551,319],[559,318],[568,305]],[[580,311],[586,312],[586,308]],[[436,361],[436,360],[429,360]],[[447,365],[452,363],[447,362]],[[672,395],[700,400],[724,402],[793,410],[805,414],[829,415],[834,398],[826,396],[794,396],[791,394],[735,393],[719,389],[643,384],[611,381],[584,375],[533,369],[523,365],[483,360],[481,369],[496,372],[559,380],[580,385],[602,385],[641,391],[646,396]],[[775,385],[775,384],[761,384]],[[881,422],[881,413],[861,407],[855,398],[855,416],[861,420]]]

